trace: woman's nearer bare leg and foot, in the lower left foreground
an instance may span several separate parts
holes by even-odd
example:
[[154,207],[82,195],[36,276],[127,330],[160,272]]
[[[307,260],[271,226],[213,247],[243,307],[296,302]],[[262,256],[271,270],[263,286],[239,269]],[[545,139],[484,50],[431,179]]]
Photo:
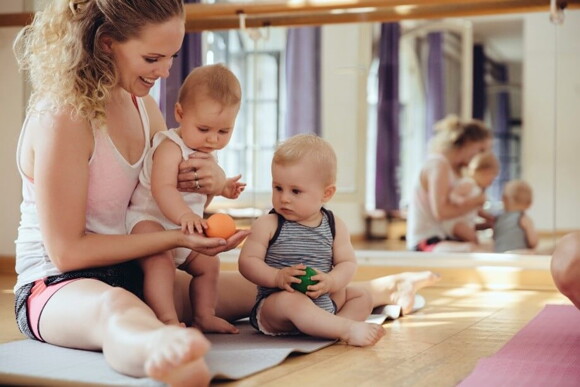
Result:
[[71,282],[47,302],[40,333],[49,343],[102,350],[109,365],[126,375],[168,384],[209,383],[203,355],[208,341],[196,329],[167,326],[138,297],[103,282]]

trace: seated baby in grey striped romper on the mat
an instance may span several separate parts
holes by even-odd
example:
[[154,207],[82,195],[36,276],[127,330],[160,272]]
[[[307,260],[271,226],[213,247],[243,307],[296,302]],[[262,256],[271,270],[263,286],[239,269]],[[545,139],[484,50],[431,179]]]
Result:
[[[257,219],[239,267],[258,286],[250,322],[268,335],[304,333],[369,346],[384,334],[364,320],[372,301],[347,288],[357,264],[344,222],[326,210],[336,192],[336,155],[314,135],[283,142],[272,160],[273,210]],[[301,293],[292,287],[309,266],[318,281]]]

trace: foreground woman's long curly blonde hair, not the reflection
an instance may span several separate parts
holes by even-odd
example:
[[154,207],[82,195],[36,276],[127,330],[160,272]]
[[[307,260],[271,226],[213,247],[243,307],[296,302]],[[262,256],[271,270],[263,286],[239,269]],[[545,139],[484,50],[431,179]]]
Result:
[[125,42],[147,24],[183,14],[181,0],[50,1],[14,41],[18,64],[32,86],[28,110],[47,100],[56,110],[66,107],[75,117],[103,122],[117,69],[100,38]]

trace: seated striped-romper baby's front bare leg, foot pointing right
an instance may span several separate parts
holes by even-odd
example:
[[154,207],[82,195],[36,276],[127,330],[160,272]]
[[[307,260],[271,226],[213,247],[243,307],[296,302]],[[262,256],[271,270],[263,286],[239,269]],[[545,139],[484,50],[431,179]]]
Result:
[[329,313],[300,292],[272,294],[264,300],[259,319],[264,329],[272,333],[298,329],[307,335],[340,339],[358,347],[374,345],[385,335],[382,326]]

